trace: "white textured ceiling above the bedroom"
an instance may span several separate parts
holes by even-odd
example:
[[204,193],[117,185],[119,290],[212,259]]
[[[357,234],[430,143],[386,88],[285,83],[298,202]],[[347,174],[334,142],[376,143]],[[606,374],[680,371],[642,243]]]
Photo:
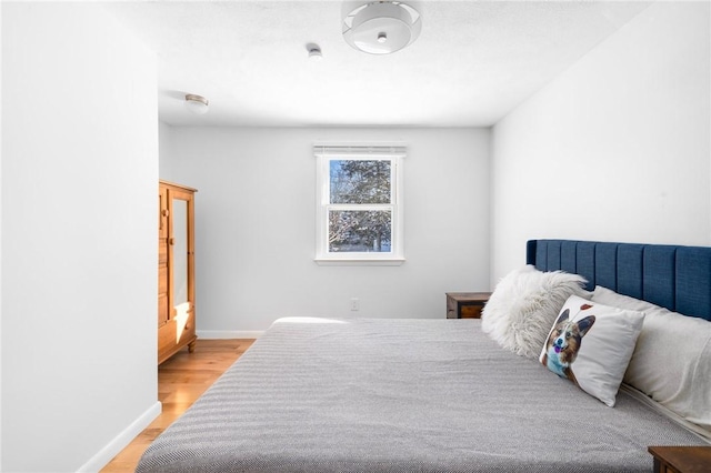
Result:
[[[106,4],[158,54],[159,115],[173,125],[489,127],[650,2],[409,2],[422,32],[392,54],[357,51],[332,1]],[[317,43],[321,61],[309,60]],[[210,101],[207,114],[186,93]]]

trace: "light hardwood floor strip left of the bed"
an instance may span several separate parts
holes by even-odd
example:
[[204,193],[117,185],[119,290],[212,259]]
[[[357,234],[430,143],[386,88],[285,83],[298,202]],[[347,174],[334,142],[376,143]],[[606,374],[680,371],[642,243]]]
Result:
[[148,445],[178,419],[250,348],[253,340],[198,340],[194,353],[184,349],[158,368],[162,413],[106,465],[102,473],[133,472]]

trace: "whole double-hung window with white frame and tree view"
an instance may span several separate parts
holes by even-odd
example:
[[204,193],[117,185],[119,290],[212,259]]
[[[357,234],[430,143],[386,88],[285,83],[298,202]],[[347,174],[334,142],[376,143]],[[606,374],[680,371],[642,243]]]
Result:
[[314,147],[319,263],[401,264],[403,147]]

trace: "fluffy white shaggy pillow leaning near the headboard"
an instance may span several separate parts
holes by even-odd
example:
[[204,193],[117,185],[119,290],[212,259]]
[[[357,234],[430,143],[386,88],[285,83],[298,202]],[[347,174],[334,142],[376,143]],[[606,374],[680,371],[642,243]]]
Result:
[[502,348],[535,359],[560,308],[571,294],[585,295],[585,279],[533,265],[499,281],[481,314],[481,329]]

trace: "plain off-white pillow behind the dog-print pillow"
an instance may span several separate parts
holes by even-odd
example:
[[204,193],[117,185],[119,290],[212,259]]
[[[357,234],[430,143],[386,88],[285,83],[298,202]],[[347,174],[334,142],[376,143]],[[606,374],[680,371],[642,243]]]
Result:
[[645,313],[624,382],[711,430],[711,322],[598,286],[592,300]]

